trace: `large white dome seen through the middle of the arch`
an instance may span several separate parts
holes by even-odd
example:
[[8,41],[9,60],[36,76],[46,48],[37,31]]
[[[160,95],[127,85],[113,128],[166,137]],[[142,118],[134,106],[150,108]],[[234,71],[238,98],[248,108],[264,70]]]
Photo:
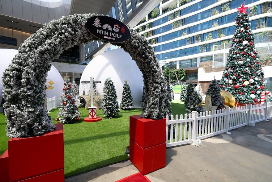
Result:
[[84,69],[80,84],[79,94],[89,93],[90,84],[82,84],[82,81],[90,81],[93,77],[100,95],[103,95],[105,79],[111,77],[116,88],[117,101],[121,103],[122,91],[125,80],[130,85],[134,107],[141,107],[143,78],[136,62],[123,49],[113,49],[96,56]]

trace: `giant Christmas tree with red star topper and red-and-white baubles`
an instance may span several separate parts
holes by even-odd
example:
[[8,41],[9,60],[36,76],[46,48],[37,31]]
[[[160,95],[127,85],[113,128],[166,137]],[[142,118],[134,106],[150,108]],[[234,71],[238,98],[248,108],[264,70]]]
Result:
[[[220,80],[221,89],[232,93],[240,104],[256,103],[261,100],[261,92],[267,90],[261,60],[254,44],[249,16],[243,4],[237,8],[236,30],[227,56],[227,63]],[[266,101],[270,101],[266,97]]]

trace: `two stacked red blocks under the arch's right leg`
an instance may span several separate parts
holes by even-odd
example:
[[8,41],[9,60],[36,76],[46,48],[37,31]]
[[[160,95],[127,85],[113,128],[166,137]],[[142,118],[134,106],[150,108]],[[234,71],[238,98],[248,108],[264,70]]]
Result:
[[130,161],[143,175],[165,167],[165,127],[165,118],[130,116]]

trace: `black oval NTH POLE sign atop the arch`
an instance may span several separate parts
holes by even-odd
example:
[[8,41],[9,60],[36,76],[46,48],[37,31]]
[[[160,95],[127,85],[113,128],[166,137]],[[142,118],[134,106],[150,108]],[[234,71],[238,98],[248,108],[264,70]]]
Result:
[[124,23],[109,16],[93,16],[86,26],[97,38],[109,42],[124,42],[130,37],[130,30]]

